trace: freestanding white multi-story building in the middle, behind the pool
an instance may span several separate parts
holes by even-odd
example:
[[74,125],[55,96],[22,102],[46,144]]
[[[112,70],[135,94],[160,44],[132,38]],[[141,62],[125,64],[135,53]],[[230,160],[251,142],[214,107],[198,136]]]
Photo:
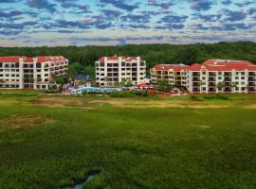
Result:
[[95,62],[95,72],[99,86],[114,85],[124,79],[137,85],[145,82],[146,61],[140,57],[102,57]]

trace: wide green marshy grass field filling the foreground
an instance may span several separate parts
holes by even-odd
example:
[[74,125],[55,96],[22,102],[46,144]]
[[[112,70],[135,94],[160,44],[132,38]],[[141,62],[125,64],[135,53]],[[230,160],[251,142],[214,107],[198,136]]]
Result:
[[255,188],[256,95],[0,95],[0,188]]

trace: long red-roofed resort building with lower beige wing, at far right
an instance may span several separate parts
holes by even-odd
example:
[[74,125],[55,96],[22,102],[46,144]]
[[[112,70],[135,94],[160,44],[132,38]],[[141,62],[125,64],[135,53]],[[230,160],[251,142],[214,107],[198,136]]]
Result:
[[174,86],[186,86],[191,93],[256,93],[256,65],[245,60],[207,60],[190,66],[160,64],[151,75],[155,84],[157,79],[167,79]]

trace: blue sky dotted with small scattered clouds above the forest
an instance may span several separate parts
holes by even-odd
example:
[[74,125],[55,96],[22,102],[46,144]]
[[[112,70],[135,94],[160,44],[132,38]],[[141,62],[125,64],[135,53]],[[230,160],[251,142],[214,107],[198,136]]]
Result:
[[256,42],[256,0],[0,0],[0,46]]

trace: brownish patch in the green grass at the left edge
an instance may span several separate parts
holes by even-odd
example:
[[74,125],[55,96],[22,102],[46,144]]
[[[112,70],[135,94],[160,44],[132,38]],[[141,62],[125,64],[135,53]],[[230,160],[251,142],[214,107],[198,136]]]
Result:
[[12,115],[0,120],[0,129],[23,129],[53,122],[53,119],[44,115]]

